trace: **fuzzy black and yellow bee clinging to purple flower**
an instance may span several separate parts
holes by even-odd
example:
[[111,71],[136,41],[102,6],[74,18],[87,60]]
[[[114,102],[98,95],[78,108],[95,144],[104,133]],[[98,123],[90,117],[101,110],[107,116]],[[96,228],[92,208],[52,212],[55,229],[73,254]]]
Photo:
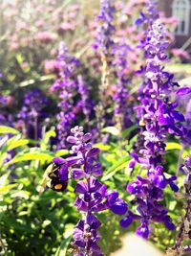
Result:
[[68,179],[62,179],[59,171],[62,168],[61,164],[51,163],[45,171],[43,181],[40,188],[40,194],[46,187],[51,188],[53,191],[65,191],[68,186]]

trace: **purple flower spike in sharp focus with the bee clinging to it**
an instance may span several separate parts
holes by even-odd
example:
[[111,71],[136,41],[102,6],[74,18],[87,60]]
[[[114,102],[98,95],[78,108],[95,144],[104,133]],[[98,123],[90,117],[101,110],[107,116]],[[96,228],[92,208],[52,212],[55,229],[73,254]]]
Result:
[[77,195],[74,205],[82,214],[82,219],[74,228],[74,255],[99,256],[103,255],[97,244],[100,239],[97,229],[101,222],[96,213],[109,209],[123,215],[127,211],[127,204],[118,198],[116,191],[107,190],[106,185],[97,179],[102,175],[102,170],[98,161],[99,150],[89,142],[92,134],[84,133],[82,127],[74,127],[71,132],[67,141],[73,144],[74,155],[66,159],[54,158],[53,162],[61,164],[59,175],[62,180],[68,178],[69,167],[72,178],[78,180],[74,188]]

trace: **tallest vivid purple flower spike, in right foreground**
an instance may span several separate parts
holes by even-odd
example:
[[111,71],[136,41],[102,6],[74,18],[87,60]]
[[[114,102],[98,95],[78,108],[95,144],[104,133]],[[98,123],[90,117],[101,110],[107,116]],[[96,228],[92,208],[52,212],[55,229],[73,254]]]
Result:
[[[149,8],[153,1],[150,2]],[[154,5],[155,7],[155,5]],[[151,10],[149,9],[149,12]],[[145,170],[145,175],[138,176],[137,180],[127,185],[127,191],[135,195],[138,204],[138,215],[131,212],[121,221],[127,227],[132,221],[141,221],[137,233],[147,239],[150,233],[151,221],[162,222],[169,230],[173,230],[168,210],[159,202],[163,198],[163,190],[167,185],[175,192],[178,191],[174,183],[176,176],[167,178],[164,175],[163,155],[165,154],[165,141],[168,134],[182,136],[185,128],[181,125],[183,115],[176,109],[178,104],[170,101],[170,95],[178,85],[173,81],[173,75],[163,70],[163,62],[167,60],[165,50],[168,47],[166,32],[159,19],[150,22],[146,37],[142,42],[145,50],[146,65],[142,68],[145,80],[139,91],[138,106],[139,126],[143,143],[133,152],[134,159],[131,167],[139,163]],[[151,21],[150,19],[150,21]]]

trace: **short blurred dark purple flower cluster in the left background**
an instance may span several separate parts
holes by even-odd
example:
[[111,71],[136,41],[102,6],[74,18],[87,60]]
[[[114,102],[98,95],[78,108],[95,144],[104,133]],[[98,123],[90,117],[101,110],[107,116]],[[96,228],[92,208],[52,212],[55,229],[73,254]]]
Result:
[[40,122],[47,117],[45,111],[47,105],[48,99],[40,89],[34,88],[27,92],[24,97],[24,105],[17,114],[15,126],[20,128],[26,136],[37,140],[42,135]]

